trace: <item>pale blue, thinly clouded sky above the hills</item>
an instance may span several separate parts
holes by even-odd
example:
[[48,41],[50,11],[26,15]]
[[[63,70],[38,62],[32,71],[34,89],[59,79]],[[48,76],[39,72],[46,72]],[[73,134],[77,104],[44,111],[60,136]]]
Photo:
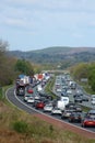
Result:
[[10,51],[95,47],[95,0],[1,0],[0,40]]

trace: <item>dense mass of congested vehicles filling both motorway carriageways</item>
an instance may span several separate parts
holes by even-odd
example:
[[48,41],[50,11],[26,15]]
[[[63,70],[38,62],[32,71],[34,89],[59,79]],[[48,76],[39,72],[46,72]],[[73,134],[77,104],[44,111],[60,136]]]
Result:
[[[95,127],[95,108],[92,103],[94,95],[85,94],[69,74],[62,74],[56,76],[52,87],[52,92],[56,96],[52,97],[45,92],[50,79],[51,77],[48,75],[48,78],[35,80],[35,84],[22,85],[17,82],[15,90],[17,98],[43,113],[74,123],[78,127],[91,127],[88,130],[95,132],[95,128],[93,128]],[[88,110],[84,111],[84,107],[87,106]]]

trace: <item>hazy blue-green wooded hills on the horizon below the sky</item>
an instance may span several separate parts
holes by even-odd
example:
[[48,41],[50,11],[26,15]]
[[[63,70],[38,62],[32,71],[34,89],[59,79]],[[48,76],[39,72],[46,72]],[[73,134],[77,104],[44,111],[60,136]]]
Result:
[[95,61],[95,47],[54,46],[36,51],[9,51],[9,56],[28,59],[38,64],[71,63]]

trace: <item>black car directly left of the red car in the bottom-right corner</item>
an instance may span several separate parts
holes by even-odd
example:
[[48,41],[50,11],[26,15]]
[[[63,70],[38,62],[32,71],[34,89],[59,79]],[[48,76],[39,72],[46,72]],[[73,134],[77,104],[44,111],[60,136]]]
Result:
[[69,117],[69,122],[80,122],[82,121],[82,116],[80,112],[72,112]]

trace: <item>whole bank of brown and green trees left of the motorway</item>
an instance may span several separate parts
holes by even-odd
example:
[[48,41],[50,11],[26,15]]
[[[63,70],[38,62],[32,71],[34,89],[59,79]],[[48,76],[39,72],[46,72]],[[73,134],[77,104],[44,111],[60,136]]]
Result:
[[9,43],[0,40],[0,86],[13,84],[19,74],[34,75],[32,64],[8,56]]

